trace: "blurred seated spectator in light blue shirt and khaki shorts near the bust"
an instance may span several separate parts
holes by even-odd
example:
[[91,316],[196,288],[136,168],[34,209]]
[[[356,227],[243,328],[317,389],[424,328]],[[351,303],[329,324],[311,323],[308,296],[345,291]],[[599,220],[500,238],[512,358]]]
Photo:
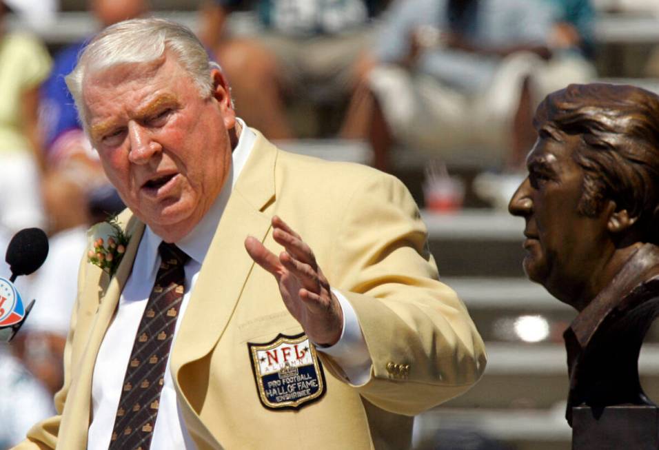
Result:
[[[481,163],[520,165],[545,85],[556,76],[561,85],[591,76],[588,64],[573,70],[551,51],[566,13],[549,0],[395,3],[378,42],[380,65],[368,76],[376,165],[386,167],[394,141],[441,158],[471,152]],[[552,65],[554,75],[542,76]]]

